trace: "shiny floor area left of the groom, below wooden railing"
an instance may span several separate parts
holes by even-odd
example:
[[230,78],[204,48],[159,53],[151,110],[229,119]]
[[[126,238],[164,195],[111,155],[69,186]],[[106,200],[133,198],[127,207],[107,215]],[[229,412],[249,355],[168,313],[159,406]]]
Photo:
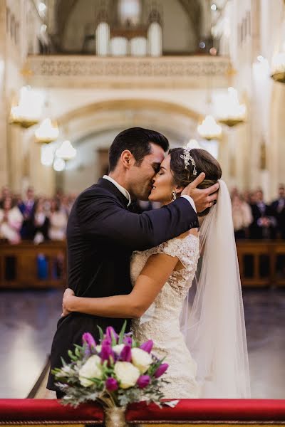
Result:
[[61,290],[0,292],[0,398],[26,398],[46,365]]

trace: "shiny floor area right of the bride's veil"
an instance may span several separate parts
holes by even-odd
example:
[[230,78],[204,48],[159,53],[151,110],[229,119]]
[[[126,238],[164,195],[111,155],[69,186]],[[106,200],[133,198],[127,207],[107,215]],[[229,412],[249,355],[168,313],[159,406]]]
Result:
[[285,290],[243,293],[252,397],[285,399]]

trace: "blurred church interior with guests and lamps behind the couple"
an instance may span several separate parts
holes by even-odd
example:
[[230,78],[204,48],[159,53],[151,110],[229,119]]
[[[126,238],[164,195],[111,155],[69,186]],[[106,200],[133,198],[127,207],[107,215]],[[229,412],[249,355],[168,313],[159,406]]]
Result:
[[0,34],[0,401],[53,399],[68,215],[130,127],[221,164],[252,399],[285,399],[285,1],[1,0]]

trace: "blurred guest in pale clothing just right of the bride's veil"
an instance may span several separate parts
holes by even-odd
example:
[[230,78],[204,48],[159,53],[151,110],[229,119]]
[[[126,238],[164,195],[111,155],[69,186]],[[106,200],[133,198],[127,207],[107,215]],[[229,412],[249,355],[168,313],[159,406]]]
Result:
[[249,204],[234,193],[232,196],[232,221],[234,223],[234,236],[235,238],[246,238],[247,228],[252,223],[252,210]]

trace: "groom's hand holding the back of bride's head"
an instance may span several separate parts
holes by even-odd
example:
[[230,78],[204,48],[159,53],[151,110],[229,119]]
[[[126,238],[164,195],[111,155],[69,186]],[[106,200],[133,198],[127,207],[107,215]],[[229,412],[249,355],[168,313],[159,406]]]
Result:
[[207,208],[213,206],[217,201],[219,183],[214,184],[207,189],[197,189],[197,186],[204,180],[205,174],[199,174],[197,178],[188,184],[182,191],[181,195],[192,197],[197,212],[202,212]]

